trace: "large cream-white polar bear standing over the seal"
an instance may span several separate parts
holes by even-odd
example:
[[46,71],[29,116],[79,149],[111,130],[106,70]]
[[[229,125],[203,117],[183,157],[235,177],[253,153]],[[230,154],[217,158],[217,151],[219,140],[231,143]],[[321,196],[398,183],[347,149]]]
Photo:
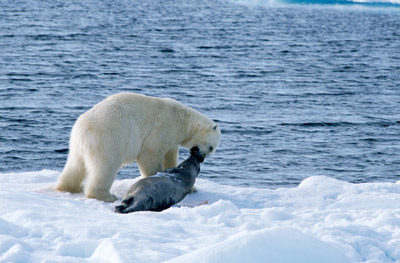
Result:
[[219,125],[169,98],[135,93],[111,95],[75,122],[69,154],[56,189],[106,202],[118,170],[137,162],[142,177],[177,166],[179,146],[210,155],[219,145]]

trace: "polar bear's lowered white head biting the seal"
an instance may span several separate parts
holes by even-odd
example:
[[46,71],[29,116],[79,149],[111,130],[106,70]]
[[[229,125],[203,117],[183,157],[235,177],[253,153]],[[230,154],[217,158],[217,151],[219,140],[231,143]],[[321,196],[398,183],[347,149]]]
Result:
[[212,123],[197,130],[188,143],[188,148],[198,147],[203,156],[210,155],[218,148],[221,140],[221,129],[218,124]]

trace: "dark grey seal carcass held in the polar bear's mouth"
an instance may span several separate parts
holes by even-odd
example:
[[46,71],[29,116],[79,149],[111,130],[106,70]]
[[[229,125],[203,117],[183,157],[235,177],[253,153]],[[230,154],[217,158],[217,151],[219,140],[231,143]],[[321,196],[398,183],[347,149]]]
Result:
[[117,213],[162,211],[180,202],[190,193],[204,156],[198,147],[190,149],[190,156],[176,168],[140,179],[128,191]]

